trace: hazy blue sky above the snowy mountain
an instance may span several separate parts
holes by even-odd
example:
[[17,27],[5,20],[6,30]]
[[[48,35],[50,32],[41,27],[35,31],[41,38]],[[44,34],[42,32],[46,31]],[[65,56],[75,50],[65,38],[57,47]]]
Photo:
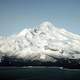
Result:
[[0,35],[45,21],[80,34],[80,0],[0,0]]

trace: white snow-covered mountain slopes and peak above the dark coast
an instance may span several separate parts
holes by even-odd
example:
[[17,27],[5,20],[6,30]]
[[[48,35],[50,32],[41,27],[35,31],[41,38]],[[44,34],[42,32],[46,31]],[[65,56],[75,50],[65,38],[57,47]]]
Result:
[[4,55],[45,61],[54,57],[77,59],[80,58],[80,36],[43,22],[36,28],[0,37],[0,57]]

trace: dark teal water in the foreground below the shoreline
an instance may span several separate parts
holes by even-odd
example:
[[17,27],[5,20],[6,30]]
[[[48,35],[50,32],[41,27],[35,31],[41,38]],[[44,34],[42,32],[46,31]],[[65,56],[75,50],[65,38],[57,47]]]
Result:
[[0,80],[80,80],[80,70],[54,67],[2,67]]

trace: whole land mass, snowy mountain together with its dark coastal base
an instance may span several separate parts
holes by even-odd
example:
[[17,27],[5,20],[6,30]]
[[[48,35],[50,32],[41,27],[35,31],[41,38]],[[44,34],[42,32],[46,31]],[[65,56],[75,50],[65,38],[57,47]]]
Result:
[[80,35],[50,22],[0,36],[0,66],[80,68]]

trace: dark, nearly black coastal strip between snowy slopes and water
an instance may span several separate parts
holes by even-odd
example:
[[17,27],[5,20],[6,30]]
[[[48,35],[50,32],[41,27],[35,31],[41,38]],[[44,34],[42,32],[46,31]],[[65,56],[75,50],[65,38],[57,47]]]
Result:
[[67,69],[80,69],[80,59],[56,58],[56,61],[24,60],[16,57],[3,56],[0,67],[63,67]]

